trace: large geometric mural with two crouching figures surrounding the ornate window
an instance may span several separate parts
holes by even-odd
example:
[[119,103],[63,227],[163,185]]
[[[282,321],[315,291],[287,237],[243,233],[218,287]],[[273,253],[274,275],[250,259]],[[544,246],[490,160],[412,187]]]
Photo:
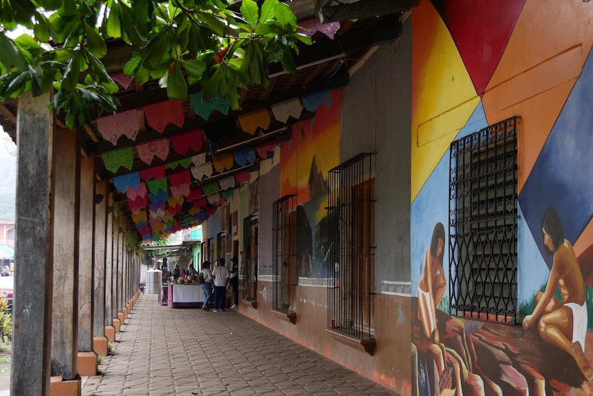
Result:
[[[593,389],[592,18],[581,0],[420,0],[412,14],[414,396]],[[510,116],[519,315],[455,317],[449,145]]]

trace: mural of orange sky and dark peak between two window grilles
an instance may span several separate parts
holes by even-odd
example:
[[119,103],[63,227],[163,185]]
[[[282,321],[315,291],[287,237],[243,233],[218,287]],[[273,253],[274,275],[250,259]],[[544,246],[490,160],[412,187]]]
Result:
[[341,90],[327,92],[312,121],[292,127],[280,149],[280,196],[297,195],[297,275],[327,277],[327,171],[340,160]]

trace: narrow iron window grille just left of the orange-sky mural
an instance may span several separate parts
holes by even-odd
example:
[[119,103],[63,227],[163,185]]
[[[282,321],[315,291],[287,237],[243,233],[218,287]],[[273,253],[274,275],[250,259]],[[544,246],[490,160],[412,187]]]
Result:
[[287,195],[273,203],[272,249],[273,262],[273,309],[294,315],[297,293],[297,196]]

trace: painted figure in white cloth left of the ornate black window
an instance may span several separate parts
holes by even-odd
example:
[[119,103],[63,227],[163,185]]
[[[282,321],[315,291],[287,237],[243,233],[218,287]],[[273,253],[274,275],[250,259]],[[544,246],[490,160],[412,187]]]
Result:
[[433,230],[431,247],[427,250],[422,264],[422,278],[418,283],[418,317],[422,322],[424,335],[439,344],[436,309],[446,289],[444,278],[444,227],[438,222]]

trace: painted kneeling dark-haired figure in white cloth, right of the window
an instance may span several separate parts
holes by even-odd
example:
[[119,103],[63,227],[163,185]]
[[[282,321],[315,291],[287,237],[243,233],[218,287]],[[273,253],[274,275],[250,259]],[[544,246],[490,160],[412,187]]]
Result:
[[[572,244],[564,239],[564,229],[558,211],[549,207],[543,214],[541,226],[543,250],[554,254],[546,291],[538,291],[537,302],[531,315],[523,320],[524,329],[533,326],[538,318],[539,334],[550,344],[568,353],[587,380],[593,379],[593,370],[585,357],[587,335],[587,302],[581,267],[576,260]],[[562,301],[554,297],[559,289]]]

